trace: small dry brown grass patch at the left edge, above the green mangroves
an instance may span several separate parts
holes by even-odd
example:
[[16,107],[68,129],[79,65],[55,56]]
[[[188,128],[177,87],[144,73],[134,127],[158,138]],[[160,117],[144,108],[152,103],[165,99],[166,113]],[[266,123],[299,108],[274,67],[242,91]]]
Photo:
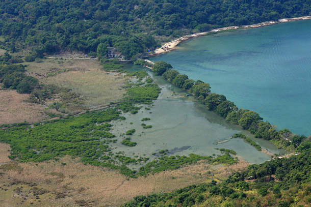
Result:
[[40,105],[24,102],[28,98],[28,94],[18,94],[15,90],[0,90],[0,125],[46,119]]

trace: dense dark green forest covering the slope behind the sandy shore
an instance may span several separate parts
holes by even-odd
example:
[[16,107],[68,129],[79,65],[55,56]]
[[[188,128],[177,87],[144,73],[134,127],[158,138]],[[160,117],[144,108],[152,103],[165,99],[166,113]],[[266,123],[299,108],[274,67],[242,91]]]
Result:
[[32,48],[29,60],[61,50],[105,55],[106,46],[131,58],[165,37],[307,15],[310,0],[5,0],[0,45],[11,52]]

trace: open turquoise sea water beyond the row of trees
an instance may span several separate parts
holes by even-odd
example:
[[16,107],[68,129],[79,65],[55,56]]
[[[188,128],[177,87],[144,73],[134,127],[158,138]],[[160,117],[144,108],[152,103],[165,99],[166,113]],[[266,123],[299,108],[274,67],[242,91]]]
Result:
[[311,20],[194,38],[151,61],[211,84],[278,129],[311,135]]

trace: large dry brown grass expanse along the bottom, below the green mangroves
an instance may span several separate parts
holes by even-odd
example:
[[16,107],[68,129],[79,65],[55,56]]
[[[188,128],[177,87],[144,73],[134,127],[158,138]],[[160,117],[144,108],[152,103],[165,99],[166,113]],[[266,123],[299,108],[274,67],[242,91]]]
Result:
[[[62,162],[66,165],[61,164]],[[116,170],[84,165],[79,158],[71,159],[68,156],[61,158],[59,162],[19,163],[18,165],[17,169],[22,170],[4,171],[7,182],[12,180],[21,182],[8,189],[11,193],[7,192],[7,194],[10,195],[10,199],[15,196],[14,203],[20,202],[22,198],[18,198],[16,192],[12,190],[18,185],[23,185],[24,189],[29,188],[24,183],[36,183],[38,188],[46,189],[49,193],[40,196],[41,202],[29,195],[24,204],[33,202],[33,206],[78,206],[77,200],[85,200],[92,206],[119,206],[137,195],[171,192],[188,185],[209,182],[222,176],[223,172],[247,167],[245,162],[214,167],[200,161],[195,165],[184,166],[177,170],[163,171],[138,179],[127,179]],[[213,171],[216,177],[209,177],[208,171]],[[56,199],[56,192],[65,193],[67,196]],[[10,203],[6,199],[4,201]]]

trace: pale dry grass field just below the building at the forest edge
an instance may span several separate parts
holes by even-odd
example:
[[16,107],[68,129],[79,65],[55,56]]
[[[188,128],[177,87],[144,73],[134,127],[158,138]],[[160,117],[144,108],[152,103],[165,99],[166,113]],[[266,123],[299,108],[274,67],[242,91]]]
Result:
[[69,71],[43,80],[48,84],[71,88],[86,98],[87,107],[117,102],[123,98],[125,78],[100,70]]

